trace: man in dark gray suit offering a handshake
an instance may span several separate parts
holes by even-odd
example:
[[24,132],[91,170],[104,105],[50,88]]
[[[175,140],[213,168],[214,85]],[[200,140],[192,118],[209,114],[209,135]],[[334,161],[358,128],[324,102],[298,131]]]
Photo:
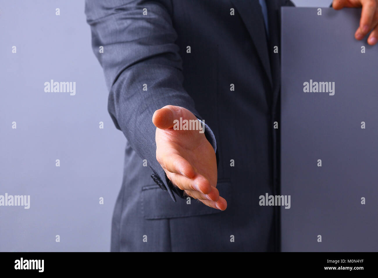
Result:
[[[334,3],[363,5],[355,36],[374,29],[370,44],[374,3]],[[127,138],[112,251],[280,250],[279,208],[260,206],[259,196],[280,194],[274,49],[287,5],[86,1],[108,110]]]

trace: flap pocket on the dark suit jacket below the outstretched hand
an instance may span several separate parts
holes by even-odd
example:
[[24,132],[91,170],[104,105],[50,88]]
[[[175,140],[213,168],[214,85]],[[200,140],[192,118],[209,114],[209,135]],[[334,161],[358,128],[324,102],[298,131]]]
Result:
[[[218,180],[217,188],[220,196],[224,197],[229,205],[231,201],[230,180]],[[173,202],[169,194],[161,190],[158,185],[143,186],[141,206],[145,219],[190,217],[222,213],[221,210],[210,208],[194,198],[191,198],[190,204],[188,204],[187,199],[182,198],[177,198],[177,202]]]

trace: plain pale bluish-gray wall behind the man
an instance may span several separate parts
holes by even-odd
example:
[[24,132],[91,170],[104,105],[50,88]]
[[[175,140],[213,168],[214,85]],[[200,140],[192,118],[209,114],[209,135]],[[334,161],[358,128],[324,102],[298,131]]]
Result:
[[[28,210],[0,207],[0,251],[109,251],[125,139],[107,112],[84,1],[2,1],[0,25],[0,194],[31,196]],[[45,93],[50,79],[75,81],[76,95]]]

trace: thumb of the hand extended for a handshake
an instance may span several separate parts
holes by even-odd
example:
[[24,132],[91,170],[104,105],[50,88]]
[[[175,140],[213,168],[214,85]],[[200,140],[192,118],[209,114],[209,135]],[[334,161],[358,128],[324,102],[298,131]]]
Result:
[[167,105],[153,113],[152,122],[159,129],[167,129],[172,128],[174,120],[180,120],[180,118],[184,120],[197,119],[192,112],[183,107]]

